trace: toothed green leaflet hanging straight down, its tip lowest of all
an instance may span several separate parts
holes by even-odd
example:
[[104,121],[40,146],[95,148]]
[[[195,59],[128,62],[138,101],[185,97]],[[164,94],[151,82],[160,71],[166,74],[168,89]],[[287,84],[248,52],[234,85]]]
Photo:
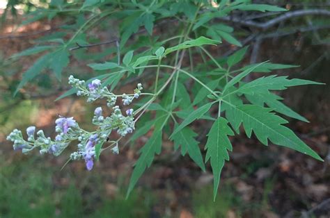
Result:
[[228,135],[234,135],[231,128],[228,126],[228,121],[223,117],[218,117],[214,121],[210,132],[207,134],[207,142],[205,149],[207,149],[205,162],[210,160],[213,171],[213,199],[217,196],[220,174],[225,163],[225,160],[229,160],[228,151],[233,150],[233,146],[228,139]]

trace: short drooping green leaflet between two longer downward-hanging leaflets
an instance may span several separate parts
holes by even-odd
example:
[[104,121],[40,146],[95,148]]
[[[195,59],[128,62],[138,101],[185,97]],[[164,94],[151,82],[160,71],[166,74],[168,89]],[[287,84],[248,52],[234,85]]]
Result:
[[197,133],[188,127],[184,127],[181,131],[173,135],[174,146],[175,149],[178,149],[179,145],[181,145],[182,156],[184,156],[188,151],[190,158],[196,162],[196,165],[205,171],[201,150],[199,149],[198,142],[194,139],[196,136]]

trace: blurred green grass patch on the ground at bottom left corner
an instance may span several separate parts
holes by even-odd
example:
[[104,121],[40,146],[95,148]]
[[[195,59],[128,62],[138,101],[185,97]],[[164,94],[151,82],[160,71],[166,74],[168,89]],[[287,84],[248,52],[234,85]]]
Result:
[[[40,165],[43,158],[13,158],[15,164],[0,160],[1,217],[148,217],[155,203],[150,192],[136,191],[125,200],[125,187],[109,197],[98,185],[93,187],[98,196],[95,199],[93,194],[84,193],[86,187],[73,176],[68,185],[55,183],[58,168]],[[89,179],[98,177],[93,174]]]

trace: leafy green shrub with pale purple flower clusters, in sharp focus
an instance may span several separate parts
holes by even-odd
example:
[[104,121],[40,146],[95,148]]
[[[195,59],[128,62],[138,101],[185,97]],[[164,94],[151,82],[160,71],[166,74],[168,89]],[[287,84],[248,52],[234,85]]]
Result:
[[[24,72],[16,92],[45,69],[50,69],[56,78],[61,79],[63,69],[69,65],[74,50],[108,43],[90,44],[86,40],[88,31],[96,25],[109,28],[107,25],[116,23],[119,25],[118,37],[109,41],[109,44],[116,44],[116,47],[111,47],[108,53],[100,51],[100,60],[113,53],[112,60],[88,65],[100,72],[100,76],[88,81],[79,80],[78,74],[76,78],[70,76],[72,90],[58,98],[76,93],[79,97],[87,97],[88,102],[104,99],[107,103],[95,108],[92,119],[95,131],[80,128],[73,117],[58,117],[58,134],[54,140],[45,136],[42,130],[35,134],[35,126],[26,129],[27,140],[17,129],[8,135],[8,140],[14,142],[14,149],[21,149],[23,153],[39,149],[41,154],[52,153],[54,156],[60,155],[69,145],[76,146],[77,151],[71,153],[70,160],[84,160],[86,168],[91,170],[94,161],[99,160],[103,151],[111,149],[113,153],[119,153],[123,137],[134,141],[152,130],[152,136],[139,151],[127,196],[143,171],[150,167],[155,155],[161,153],[164,137],[173,141],[174,149],[180,149],[182,156],[188,153],[203,171],[205,162],[210,160],[214,174],[214,199],[221,170],[225,160],[229,160],[228,151],[233,150],[228,137],[238,134],[240,126],[244,126],[248,137],[251,137],[253,131],[262,144],[268,145],[269,140],[273,144],[322,160],[290,128],[284,126],[288,121],[278,114],[307,120],[285,106],[281,97],[272,92],[295,85],[321,83],[276,75],[247,81],[244,78],[252,72],[269,73],[274,69],[296,66],[262,62],[237,69],[247,47],[228,56],[225,61],[220,61],[219,57],[210,52],[209,49],[214,49],[221,40],[242,47],[233,37],[233,28],[219,23],[217,19],[228,16],[233,10],[285,11],[277,6],[250,1],[86,0],[84,3],[51,1],[49,8],[31,12],[33,17],[26,20],[26,23],[42,17],[52,19],[57,15],[66,15],[68,20],[77,22],[62,28],[57,35],[45,37],[36,47],[13,56],[18,58],[47,51]],[[156,25],[165,25],[166,34],[154,31]],[[66,37],[68,35],[69,39]],[[127,43],[129,38],[134,40],[132,44]],[[120,53],[125,53],[122,61]],[[120,81],[132,79],[140,82],[132,93],[113,93]],[[151,85],[141,85],[142,81],[150,80]],[[123,113],[120,106],[129,108]],[[102,116],[103,110],[111,111],[111,115]],[[146,115],[152,119],[143,121]],[[205,157],[196,141],[196,136],[203,133],[205,126],[189,126],[201,119],[204,124],[212,124],[205,135]],[[136,128],[136,123],[139,128]],[[116,140],[109,139],[112,131],[118,133]]]

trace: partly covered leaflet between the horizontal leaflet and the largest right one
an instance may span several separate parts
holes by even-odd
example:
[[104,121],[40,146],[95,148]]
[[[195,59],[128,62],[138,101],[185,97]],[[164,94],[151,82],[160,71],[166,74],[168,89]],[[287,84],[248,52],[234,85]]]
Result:
[[301,121],[308,122],[308,120],[305,117],[302,117],[297,112],[294,112],[291,108],[288,106],[285,106],[284,103],[282,103],[281,97],[278,97],[276,94],[273,94],[271,92],[269,93],[254,93],[251,94],[245,94],[246,99],[248,99],[251,103],[258,105],[258,106],[264,106],[266,103],[269,108],[273,108],[276,112],[279,112],[285,116],[292,117],[294,119],[299,119]]

